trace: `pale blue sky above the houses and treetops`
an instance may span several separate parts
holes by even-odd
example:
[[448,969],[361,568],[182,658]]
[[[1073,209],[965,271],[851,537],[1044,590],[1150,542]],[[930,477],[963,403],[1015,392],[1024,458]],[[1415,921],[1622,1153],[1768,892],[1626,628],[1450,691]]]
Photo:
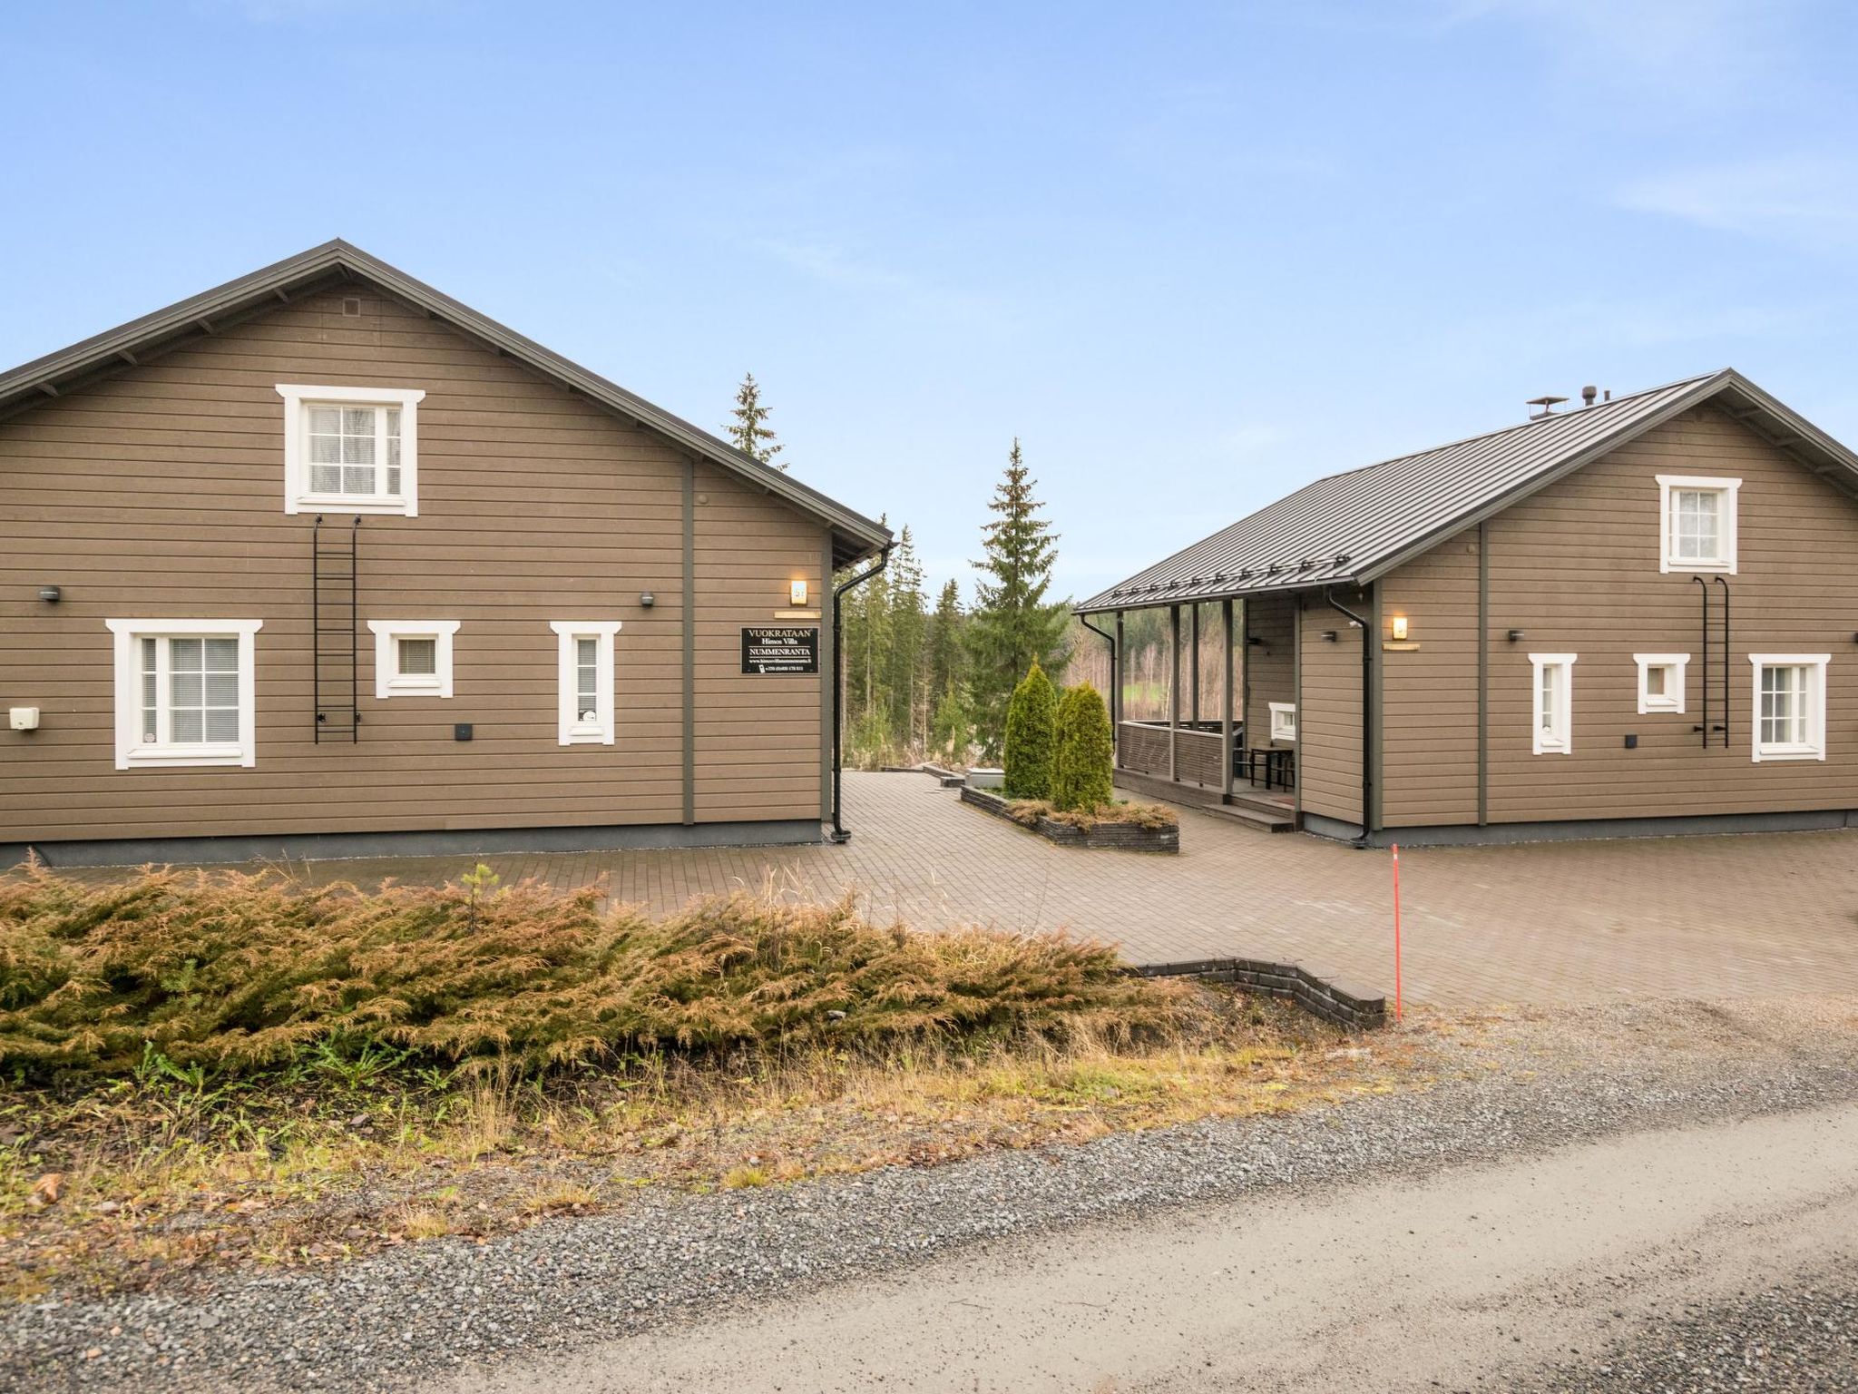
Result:
[[1087,595],[1317,474],[1734,364],[1858,441],[1858,9],[28,6],[13,364],[344,236],[970,584],[1024,441]]

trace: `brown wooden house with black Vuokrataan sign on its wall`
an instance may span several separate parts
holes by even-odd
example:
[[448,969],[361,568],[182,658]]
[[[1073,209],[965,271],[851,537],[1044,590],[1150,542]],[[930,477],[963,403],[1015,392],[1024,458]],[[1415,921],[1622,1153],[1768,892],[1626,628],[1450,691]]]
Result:
[[0,864],[818,840],[888,545],[331,242],[0,375]]

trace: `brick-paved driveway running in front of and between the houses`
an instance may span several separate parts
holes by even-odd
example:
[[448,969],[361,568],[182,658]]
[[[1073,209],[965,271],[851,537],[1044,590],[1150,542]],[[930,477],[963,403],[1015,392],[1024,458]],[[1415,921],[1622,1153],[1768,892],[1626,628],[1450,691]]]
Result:
[[[923,775],[845,775],[844,848],[487,857],[654,909],[773,885],[851,888],[875,916],[1068,926],[1139,963],[1256,953],[1392,991],[1388,853],[1182,812],[1182,853],[1076,851]],[[451,879],[468,859],[323,862],[318,879]],[[1407,994],[1438,1006],[1858,993],[1858,833],[1401,853]]]

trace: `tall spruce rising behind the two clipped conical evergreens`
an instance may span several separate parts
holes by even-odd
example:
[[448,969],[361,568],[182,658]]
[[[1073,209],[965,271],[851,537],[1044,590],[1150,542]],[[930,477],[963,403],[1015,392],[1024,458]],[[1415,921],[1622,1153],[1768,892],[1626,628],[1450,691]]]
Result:
[[1065,602],[1046,602],[1057,537],[1033,498],[1033,478],[1020,455],[1018,439],[1007,470],[994,487],[988,507],[998,515],[981,532],[983,556],[975,561],[974,613],[968,636],[970,695],[979,738],[988,756],[998,756],[1005,736],[1007,701],[1020,673],[1031,664],[1059,667],[1065,660]]

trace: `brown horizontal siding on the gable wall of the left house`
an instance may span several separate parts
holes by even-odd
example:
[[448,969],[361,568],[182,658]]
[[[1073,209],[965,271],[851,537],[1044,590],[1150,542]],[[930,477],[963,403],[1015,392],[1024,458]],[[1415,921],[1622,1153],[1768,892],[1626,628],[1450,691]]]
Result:
[[[459,621],[455,697],[375,701],[364,628],[359,743],[310,740],[312,515],[282,509],[277,383],[427,394],[420,515],[364,519],[360,617]],[[682,480],[663,439],[357,286],[0,422],[0,704],[43,708],[0,732],[0,842],[678,822]],[[818,680],[738,682],[734,634],[790,574],[821,585],[823,532],[700,487],[697,816],[818,812]],[[115,769],[111,617],[264,621],[256,768]],[[613,745],[557,743],[556,619],[624,625]]]

